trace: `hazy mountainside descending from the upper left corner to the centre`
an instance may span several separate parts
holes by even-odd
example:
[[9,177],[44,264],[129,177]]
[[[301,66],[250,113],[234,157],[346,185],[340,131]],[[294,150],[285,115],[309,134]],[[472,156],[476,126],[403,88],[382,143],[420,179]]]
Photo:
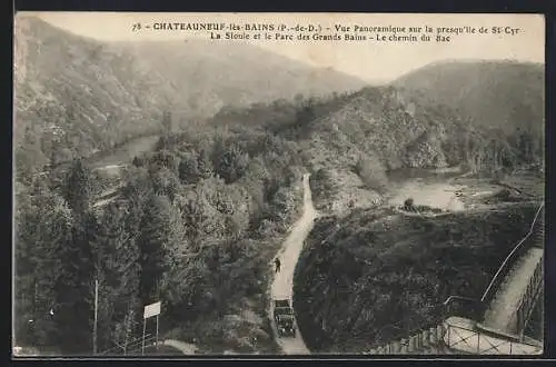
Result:
[[159,132],[165,112],[190,123],[222,106],[365,86],[255,46],[101,42],[37,18],[16,19],[18,171]]

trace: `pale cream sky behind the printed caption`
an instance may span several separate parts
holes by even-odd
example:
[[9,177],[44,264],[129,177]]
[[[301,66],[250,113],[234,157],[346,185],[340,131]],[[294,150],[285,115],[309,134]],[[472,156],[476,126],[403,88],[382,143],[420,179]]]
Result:
[[[135,23],[155,22],[235,22],[274,23],[294,27],[316,24],[322,29],[336,24],[360,27],[480,27],[488,33],[451,34],[450,42],[376,41],[247,41],[316,67],[331,67],[368,81],[387,81],[416,68],[447,59],[514,59],[544,62],[545,22],[540,14],[408,14],[408,13],[109,13],[37,12],[28,13],[76,34],[106,41],[209,39],[208,32],[132,31]],[[17,19],[16,19],[17,22]],[[494,34],[493,27],[518,29],[515,34]],[[326,31],[328,33],[334,31]],[[252,33],[252,32],[251,32]],[[270,32],[272,36],[275,32]],[[357,34],[377,36],[377,32]],[[390,33],[383,33],[389,36]],[[420,37],[421,33],[418,34]],[[445,33],[445,36],[448,36]]]

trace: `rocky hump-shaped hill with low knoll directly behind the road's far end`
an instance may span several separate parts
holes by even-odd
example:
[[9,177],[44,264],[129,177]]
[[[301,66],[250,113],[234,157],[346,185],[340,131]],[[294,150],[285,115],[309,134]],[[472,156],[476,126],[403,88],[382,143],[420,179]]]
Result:
[[[311,186],[321,210],[345,214],[380,204],[389,170],[473,166],[478,157],[481,162],[474,169],[496,165],[488,157],[485,131],[453,109],[421,102],[394,87],[365,88],[329,113],[318,109],[298,133],[317,172]],[[476,141],[475,147],[468,147],[466,138]]]

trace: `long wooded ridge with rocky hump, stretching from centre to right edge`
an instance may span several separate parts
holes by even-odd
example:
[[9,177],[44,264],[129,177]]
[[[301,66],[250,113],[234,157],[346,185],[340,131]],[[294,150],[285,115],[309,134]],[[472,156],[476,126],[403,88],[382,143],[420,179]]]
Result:
[[499,133],[461,110],[394,86],[222,110],[212,123],[270,129],[300,142],[317,169],[349,169],[367,157],[384,169],[465,165],[493,171],[543,158],[542,140],[529,130]]

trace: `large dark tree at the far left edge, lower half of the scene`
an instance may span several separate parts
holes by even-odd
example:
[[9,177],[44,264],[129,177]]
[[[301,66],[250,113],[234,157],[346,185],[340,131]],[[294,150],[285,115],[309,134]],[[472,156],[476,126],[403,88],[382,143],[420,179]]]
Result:
[[63,249],[70,244],[72,215],[67,204],[46,185],[18,200],[16,220],[16,338],[33,345],[58,341],[49,314],[58,309],[57,284],[63,277]]

